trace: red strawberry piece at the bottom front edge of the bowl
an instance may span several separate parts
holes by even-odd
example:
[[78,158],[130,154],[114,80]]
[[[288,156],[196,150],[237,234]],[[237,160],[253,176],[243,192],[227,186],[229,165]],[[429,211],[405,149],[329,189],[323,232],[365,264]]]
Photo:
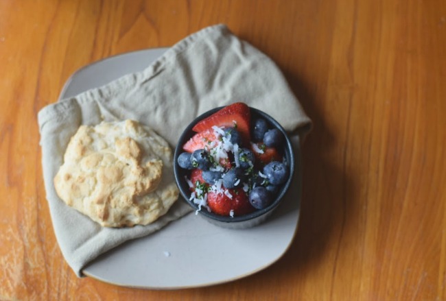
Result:
[[255,210],[243,189],[228,189],[228,193],[232,195],[232,198],[224,193],[209,191],[207,204],[213,213],[229,216],[231,210],[233,210],[236,216],[248,214]]

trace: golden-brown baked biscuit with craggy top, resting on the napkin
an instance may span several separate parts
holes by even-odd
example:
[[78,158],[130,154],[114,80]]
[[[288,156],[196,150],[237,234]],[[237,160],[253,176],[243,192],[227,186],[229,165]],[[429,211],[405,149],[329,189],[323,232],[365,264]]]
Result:
[[81,125],[54,186],[67,205],[106,227],[150,224],[179,194],[169,144],[132,120]]

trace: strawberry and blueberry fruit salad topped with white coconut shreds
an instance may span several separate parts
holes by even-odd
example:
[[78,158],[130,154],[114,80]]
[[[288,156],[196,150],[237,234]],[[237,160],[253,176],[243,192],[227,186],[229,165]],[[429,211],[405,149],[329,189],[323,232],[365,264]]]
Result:
[[[250,108],[235,103],[196,123],[178,165],[198,210],[239,216],[268,207],[290,176],[285,137],[268,121],[251,120]],[[198,211],[197,211],[198,212]]]

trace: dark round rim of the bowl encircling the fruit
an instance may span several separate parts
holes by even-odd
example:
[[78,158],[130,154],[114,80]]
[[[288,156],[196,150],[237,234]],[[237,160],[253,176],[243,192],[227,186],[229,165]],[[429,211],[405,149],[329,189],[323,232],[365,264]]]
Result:
[[[214,221],[220,221],[223,223],[233,224],[233,223],[237,223],[237,222],[243,222],[243,221],[249,221],[249,220],[256,219],[257,217],[261,217],[261,216],[265,215],[266,213],[274,210],[277,206],[279,206],[279,204],[283,200],[283,197],[287,193],[287,190],[289,189],[290,184],[293,181],[295,158],[294,158],[294,149],[293,149],[290,137],[288,136],[287,132],[282,127],[282,125],[276,119],[274,119],[273,117],[268,115],[266,112],[263,112],[256,108],[248,106],[248,108],[250,108],[251,117],[253,116],[253,113],[254,113],[254,115],[260,115],[260,117],[263,117],[264,119],[266,119],[266,121],[268,121],[268,123],[271,123],[274,126],[274,128],[279,129],[282,132],[282,134],[285,136],[284,156],[286,158],[286,164],[290,171],[290,176],[288,177],[287,181],[284,184],[282,184],[279,194],[275,198],[274,202],[272,202],[266,208],[257,209],[255,211],[253,211],[253,213],[230,217],[230,216],[217,215],[215,213],[209,212],[206,208],[202,208],[201,210],[198,210],[198,205],[194,204],[193,202],[191,202],[191,200],[189,200],[191,192],[189,191],[189,186],[186,184],[186,182],[183,178],[184,175],[181,172],[181,171],[183,171],[183,173],[187,173],[188,171],[185,169],[182,169],[181,167],[178,166],[178,162],[177,162],[178,156],[180,156],[180,154],[182,154],[184,152],[183,151],[184,143],[187,140],[189,140],[191,138],[191,136],[193,135],[193,133],[194,133],[192,130],[193,126],[196,125],[196,123],[198,123],[202,119],[209,117],[210,115],[217,112],[218,110],[221,110],[224,107],[225,106],[220,106],[220,107],[208,110],[207,112],[204,112],[201,115],[199,115],[198,117],[196,117],[195,119],[193,119],[193,121],[191,121],[191,123],[189,123],[189,125],[187,125],[187,128],[185,128],[183,133],[180,135],[180,139],[178,139],[178,142],[175,147],[174,176],[175,176],[175,180],[176,180],[178,189],[180,190],[180,195],[183,197],[183,200],[185,202],[187,202],[187,204],[189,204],[189,206],[191,206],[194,210],[196,210],[196,214],[198,213],[198,214],[202,215],[203,217],[213,219]],[[182,184],[182,182],[180,182],[180,181],[183,181],[184,183]],[[185,189],[186,186],[187,186],[187,189]]]

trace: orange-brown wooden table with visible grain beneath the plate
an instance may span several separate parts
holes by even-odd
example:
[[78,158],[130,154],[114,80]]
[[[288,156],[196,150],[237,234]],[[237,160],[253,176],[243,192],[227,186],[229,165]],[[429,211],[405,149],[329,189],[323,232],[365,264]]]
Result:
[[[215,23],[272,58],[314,121],[290,250],[224,285],[77,278],[36,114],[76,69]],[[446,300],[446,1],[0,1],[0,300]]]

